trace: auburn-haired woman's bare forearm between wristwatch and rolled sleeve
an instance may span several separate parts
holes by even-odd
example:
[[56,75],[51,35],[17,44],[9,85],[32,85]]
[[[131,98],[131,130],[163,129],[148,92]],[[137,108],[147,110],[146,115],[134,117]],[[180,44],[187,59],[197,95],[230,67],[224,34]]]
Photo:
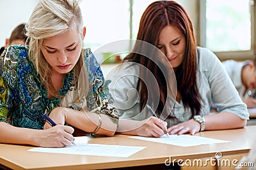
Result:
[[220,129],[236,129],[246,125],[247,120],[232,113],[221,112],[205,116],[205,131]]

